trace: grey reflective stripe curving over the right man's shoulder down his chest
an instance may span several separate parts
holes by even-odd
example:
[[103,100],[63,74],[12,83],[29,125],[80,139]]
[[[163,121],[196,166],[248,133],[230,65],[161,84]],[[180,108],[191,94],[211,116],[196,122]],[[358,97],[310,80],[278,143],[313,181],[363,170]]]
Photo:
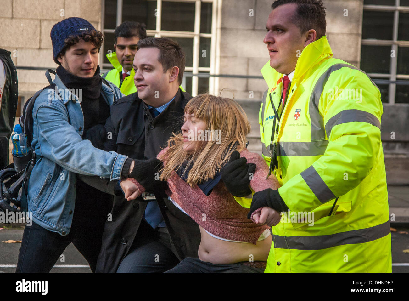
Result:
[[[310,97],[309,111],[310,111],[310,120],[311,120],[311,141],[321,140],[325,138],[324,117],[319,114],[319,110],[318,110],[319,99],[321,97],[322,92],[324,91],[324,86],[326,82],[328,81],[328,78],[330,77],[331,73],[343,67],[359,70],[365,74],[364,71],[362,71],[359,68],[356,68],[355,66],[348,65],[348,64],[335,64],[333,66],[330,66],[330,68],[328,68],[319,77],[319,79],[315,83],[314,89],[312,90],[311,97]],[[375,85],[375,83],[372,81],[370,77],[369,79],[371,80],[372,84]],[[378,86],[376,85],[375,87],[378,88]]]

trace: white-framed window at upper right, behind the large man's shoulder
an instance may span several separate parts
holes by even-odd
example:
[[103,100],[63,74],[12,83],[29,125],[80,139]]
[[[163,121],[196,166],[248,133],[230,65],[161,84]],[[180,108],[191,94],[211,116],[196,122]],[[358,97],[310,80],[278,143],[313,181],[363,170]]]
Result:
[[364,0],[361,69],[382,102],[409,103],[409,0]]

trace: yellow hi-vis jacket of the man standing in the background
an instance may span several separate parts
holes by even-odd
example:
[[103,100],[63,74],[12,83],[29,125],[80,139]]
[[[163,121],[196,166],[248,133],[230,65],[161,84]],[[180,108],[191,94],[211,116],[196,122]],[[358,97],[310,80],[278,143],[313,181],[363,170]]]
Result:
[[106,55],[114,69],[108,71],[107,73],[103,74],[102,77],[105,78],[107,81],[112,82],[117,86],[124,95],[129,95],[135,93],[135,81],[133,77],[135,76],[135,70],[133,68],[130,70],[130,75],[125,77],[124,81],[121,84],[121,72],[122,72],[122,65],[119,63],[117,54],[115,52],[108,53]]

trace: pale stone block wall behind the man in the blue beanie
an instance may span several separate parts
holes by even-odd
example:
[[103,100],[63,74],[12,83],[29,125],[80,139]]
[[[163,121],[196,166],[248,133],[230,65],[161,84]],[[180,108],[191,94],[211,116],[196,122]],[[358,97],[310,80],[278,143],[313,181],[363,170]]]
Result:
[[[50,31],[58,21],[81,17],[101,30],[100,0],[0,0],[0,48],[16,66],[56,68]],[[17,69],[19,96],[31,97],[47,85],[43,70]]]

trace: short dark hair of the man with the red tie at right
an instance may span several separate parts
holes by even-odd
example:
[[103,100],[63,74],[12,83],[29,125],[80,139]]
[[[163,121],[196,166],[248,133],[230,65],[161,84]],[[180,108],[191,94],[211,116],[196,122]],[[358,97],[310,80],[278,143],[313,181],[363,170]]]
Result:
[[317,40],[325,36],[327,22],[325,20],[324,2],[321,0],[276,0],[271,5],[272,9],[284,4],[297,4],[297,15],[294,23],[301,33],[314,29],[317,32]]

